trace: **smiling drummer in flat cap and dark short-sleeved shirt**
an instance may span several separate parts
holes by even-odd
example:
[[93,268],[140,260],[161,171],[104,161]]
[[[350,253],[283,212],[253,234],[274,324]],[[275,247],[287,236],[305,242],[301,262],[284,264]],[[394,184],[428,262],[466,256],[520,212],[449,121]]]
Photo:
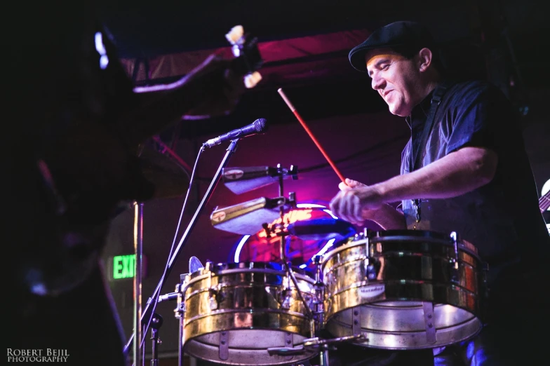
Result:
[[[548,329],[540,294],[550,238],[511,104],[484,81],[453,81],[415,22],[377,29],[349,60],[368,73],[391,114],[405,117],[411,139],[401,175],[369,187],[347,179],[331,209],[383,229],[457,231],[476,245],[489,265],[488,325],[448,346],[438,364],[535,365],[542,354],[535,334]],[[398,201],[402,212],[389,205]]]

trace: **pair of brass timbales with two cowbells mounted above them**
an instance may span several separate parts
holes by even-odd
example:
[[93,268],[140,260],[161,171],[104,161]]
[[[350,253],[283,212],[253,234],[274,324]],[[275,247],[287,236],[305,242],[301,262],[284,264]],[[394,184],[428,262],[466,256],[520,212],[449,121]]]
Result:
[[[282,193],[283,176],[293,175],[293,168],[280,165],[230,168],[224,182],[242,188],[235,180],[244,179],[253,187],[250,180],[266,184],[272,176]],[[265,366],[309,365],[315,359],[329,365],[329,352],[343,342],[418,350],[455,344],[481,331],[487,267],[476,247],[457,233],[363,229],[314,257],[314,270],[306,271],[286,258],[288,225],[265,224],[273,212],[292,209],[295,195],[280,196],[210,216],[215,227],[227,231],[246,231],[246,222],[280,236],[281,260],[206,262],[182,276],[175,308],[180,358]]]

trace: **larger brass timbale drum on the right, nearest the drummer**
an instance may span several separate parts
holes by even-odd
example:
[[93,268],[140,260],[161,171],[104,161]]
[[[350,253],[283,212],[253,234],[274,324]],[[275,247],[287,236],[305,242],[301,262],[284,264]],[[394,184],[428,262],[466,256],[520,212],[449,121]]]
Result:
[[323,258],[326,329],[396,350],[469,339],[483,327],[485,269],[455,233],[365,231]]

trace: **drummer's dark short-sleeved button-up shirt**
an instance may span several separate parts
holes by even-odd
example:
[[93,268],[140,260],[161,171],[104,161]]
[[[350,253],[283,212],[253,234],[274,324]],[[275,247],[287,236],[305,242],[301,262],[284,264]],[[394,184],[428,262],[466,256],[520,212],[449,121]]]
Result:
[[[431,94],[407,118],[411,140],[401,154],[401,174],[410,171],[411,142],[416,147],[431,106]],[[462,147],[495,151],[495,177],[483,187],[446,199],[421,199],[420,222],[411,200],[403,201],[408,229],[456,231],[476,245],[489,264],[547,256],[550,238],[538,208],[537,188],[521,130],[510,102],[482,81],[456,83],[441,100],[434,125],[420,149],[421,168]]]

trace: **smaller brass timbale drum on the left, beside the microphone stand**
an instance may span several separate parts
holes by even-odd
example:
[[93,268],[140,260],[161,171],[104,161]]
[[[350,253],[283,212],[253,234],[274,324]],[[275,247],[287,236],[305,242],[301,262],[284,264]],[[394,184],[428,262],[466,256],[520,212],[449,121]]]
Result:
[[[315,281],[293,269],[308,306]],[[292,348],[312,337],[313,320],[281,264],[212,264],[191,273],[182,285],[182,350],[224,365],[284,365],[317,353],[270,355],[268,348]]]

